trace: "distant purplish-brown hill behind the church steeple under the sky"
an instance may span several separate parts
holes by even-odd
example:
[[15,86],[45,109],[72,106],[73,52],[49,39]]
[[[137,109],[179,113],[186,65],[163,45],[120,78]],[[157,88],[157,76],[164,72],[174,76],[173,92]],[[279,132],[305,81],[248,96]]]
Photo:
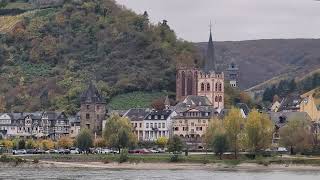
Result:
[[[207,43],[196,45],[201,52],[206,50]],[[240,66],[242,89],[272,78],[299,78],[320,68],[320,39],[215,42],[215,49],[221,68],[232,60]]]

